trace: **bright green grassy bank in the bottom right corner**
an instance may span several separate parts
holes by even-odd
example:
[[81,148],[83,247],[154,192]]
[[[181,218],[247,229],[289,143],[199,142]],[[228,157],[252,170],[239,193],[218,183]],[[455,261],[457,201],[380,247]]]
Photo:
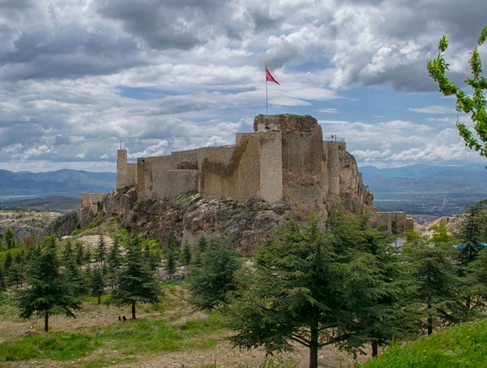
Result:
[[465,323],[399,346],[360,368],[485,368],[487,367],[487,319]]

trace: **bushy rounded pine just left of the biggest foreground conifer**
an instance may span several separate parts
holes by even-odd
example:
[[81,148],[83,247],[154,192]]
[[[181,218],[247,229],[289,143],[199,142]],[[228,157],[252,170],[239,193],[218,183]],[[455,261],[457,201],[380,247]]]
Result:
[[234,273],[240,266],[227,239],[211,238],[201,253],[201,263],[189,274],[189,302],[196,310],[209,310],[225,302],[227,292],[237,288]]

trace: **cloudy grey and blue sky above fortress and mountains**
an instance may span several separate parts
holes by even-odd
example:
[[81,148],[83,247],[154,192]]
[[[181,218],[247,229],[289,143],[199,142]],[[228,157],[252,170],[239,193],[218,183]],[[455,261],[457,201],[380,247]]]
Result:
[[[450,76],[485,0],[0,0],[0,169],[115,171],[129,157],[234,143],[265,113],[312,115],[359,166],[485,163],[426,72]],[[487,65],[487,47],[479,49]],[[460,115],[468,122],[468,116]]]

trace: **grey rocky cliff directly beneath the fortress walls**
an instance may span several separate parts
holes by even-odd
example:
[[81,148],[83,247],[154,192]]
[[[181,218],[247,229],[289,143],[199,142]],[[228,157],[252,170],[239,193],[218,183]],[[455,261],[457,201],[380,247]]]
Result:
[[185,193],[169,200],[145,200],[136,203],[135,189],[111,191],[104,199],[106,216],[118,217],[134,234],[158,239],[170,237],[179,243],[223,235],[234,247],[252,253],[275,227],[285,220],[286,202],[270,205],[258,198],[244,204],[232,200],[204,200],[198,193]]

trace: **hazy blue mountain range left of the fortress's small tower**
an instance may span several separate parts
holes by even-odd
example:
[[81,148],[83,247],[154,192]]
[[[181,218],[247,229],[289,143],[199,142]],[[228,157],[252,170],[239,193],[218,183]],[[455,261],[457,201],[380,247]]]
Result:
[[46,173],[0,170],[0,197],[67,196],[79,198],[83,192],[107,193],[115,189],[115,173],[57,170]]

